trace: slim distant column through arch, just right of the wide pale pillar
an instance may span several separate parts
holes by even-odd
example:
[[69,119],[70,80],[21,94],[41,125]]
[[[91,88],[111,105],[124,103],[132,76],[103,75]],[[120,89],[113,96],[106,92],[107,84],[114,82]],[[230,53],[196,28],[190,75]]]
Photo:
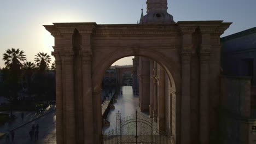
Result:
[[149,116],[153,118],[153,110],[154,110],[154,61],[150,61],[150,104],[149,104]]

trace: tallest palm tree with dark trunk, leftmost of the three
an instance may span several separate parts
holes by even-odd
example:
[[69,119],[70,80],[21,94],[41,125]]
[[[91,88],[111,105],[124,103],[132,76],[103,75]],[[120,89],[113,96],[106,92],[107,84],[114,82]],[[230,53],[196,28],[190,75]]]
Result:
[[5,65],[10,69],[10,75],[8,79],[8,86],[10,89],[9,101],[10,101],[10,112],[12,113],[11,105],[18,98],[19,91],[19,78],[21,75],[20,68],[22,66],[21,62],[26,61],[26,55],[24,55],[24,51],[20,49],[8,49],[3,54],[3,60],[5,61]]

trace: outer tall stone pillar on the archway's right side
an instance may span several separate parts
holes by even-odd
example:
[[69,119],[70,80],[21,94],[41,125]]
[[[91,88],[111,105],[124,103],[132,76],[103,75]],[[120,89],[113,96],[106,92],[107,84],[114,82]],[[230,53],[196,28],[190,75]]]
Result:
[[211,33],[201,29],[202,44],[200,49],[200,143],[209,141],[209,60],[211,51]]

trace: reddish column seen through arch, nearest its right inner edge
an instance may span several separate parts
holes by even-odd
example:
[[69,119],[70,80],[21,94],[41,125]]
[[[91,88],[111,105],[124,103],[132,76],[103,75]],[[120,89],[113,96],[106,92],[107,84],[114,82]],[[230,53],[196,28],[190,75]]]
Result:
[[158,128],[165,130],[165,70],[159,65]]

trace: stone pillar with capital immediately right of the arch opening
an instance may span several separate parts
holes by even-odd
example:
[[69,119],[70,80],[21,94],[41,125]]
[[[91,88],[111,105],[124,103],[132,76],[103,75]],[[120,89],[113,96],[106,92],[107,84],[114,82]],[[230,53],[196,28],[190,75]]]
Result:
[[181,144],[191,143],[191,55],[196,27],[179,24],[182,34]]

